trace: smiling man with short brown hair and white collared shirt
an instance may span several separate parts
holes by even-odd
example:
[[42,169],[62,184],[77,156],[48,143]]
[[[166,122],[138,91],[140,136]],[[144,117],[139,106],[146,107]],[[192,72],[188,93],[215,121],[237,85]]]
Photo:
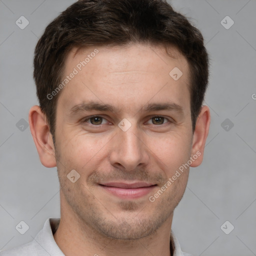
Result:
[[34,79],[60,219],[0,255],[190,255],[171,223],[210,123],[201,33],[163,0],[79,0],[39,39]]

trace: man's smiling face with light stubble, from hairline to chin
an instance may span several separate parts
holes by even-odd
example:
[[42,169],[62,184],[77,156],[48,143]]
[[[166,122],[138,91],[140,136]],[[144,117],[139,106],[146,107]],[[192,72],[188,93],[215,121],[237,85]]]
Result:
[[[74,52],[63,79],[77,73],[56,108],[61,212],[108,237],[144,237],[172,218],[187,183],[188,168],[166,184],[192,156],[187,61],[174,48],[172,58],[163,47],[140,44]],[[177,80],[169,75],[174,67],[182,71]],[[86,110],[91,102],[113,109]],[[158,104],[171,107],[146,110]],[[73,169],[75,182],[67,178]]]

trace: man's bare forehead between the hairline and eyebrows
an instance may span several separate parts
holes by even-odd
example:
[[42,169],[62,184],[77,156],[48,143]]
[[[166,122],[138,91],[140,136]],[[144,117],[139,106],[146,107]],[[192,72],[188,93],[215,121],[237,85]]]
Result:
[[144,44],[73,48],[65,59],[63,79],[76,74],[64,86],[60,103],[71,108],[89,99],[131,109],[152,99],[189,108],[184,102],[189,101],[188,63],[177,49],[168,52],[171,56],[163,46]]

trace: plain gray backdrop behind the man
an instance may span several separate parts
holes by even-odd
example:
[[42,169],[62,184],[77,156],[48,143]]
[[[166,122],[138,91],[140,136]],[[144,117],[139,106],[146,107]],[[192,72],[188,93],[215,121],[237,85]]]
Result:
[[[32,58],[38,37],[72,2],[0,0],[0,250],[32,240],[46,218],[60,214],[56,168],[40,163],[29,127],[22,131],[16,123],[28,121],[37,104]],[[256,1],[170,3],[201,30],[211,59],[204,160],[190,168],[172,229],[194,255],[256,255]],[[21,15],[29,21],[24,29],[15,24]],[[220,22],[226,15],[234,21],[229,29]],[[221,126],[226,118],[229,130]],[[21,220],[29,225],[23,235],[15,229]],[[229,234],[220,229],[226,220],[234,226]]]

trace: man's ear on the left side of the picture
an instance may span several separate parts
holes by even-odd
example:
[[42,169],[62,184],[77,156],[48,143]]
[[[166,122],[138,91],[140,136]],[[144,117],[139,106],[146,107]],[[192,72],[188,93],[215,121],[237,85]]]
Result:
[[55,167],[56,160],[52,136],[46,116],[39,106],[34,105],[30,108],[28,121],[41,163],[45,167]]

